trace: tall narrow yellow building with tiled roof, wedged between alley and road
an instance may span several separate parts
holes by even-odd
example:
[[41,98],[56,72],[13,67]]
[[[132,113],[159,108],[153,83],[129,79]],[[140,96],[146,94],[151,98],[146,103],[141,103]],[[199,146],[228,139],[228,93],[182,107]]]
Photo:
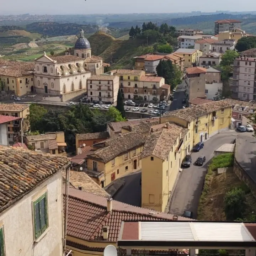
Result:
[[142,207],[164,212],[174,190],[189,130],[175,123],[152,126],[142,159]]

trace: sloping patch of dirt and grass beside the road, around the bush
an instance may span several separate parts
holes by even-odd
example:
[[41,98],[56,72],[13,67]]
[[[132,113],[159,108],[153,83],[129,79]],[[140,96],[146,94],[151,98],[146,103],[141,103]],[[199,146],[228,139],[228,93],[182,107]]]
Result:
[[[252,212],[256,212],[256,201],[250,189],[241,182],[233,172],[234,154],[226,153],[216,156],[208,166],[204,188],[199,200],[198,220],[226,220],[225,194],[234,189],[241,188],[245,192],[244,217],[251,219]],[[231,167],[230,167],[231,166]],[[229,167],[226,173],[217,174],[217,168]]]

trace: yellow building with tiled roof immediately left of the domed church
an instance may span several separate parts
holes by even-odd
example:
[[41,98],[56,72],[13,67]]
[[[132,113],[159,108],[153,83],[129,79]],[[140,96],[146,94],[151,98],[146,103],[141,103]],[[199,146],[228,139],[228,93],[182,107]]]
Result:
[[4,90],[16,96],[33,91],[33,70],[34,63],[0,60],[0,78]]

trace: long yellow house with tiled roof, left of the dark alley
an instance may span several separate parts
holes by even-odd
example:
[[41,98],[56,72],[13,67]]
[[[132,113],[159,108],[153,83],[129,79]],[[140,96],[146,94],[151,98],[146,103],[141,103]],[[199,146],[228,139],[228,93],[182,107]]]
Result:
[[87,174],[101,185],[107,186],[117,178],[139,171],[142,161],[139,159],[145,143],[145,134],[150,127],[159,124],[153,122],[140,123],[122,127],[122,134],[92,146],[93,153],[87,155]]

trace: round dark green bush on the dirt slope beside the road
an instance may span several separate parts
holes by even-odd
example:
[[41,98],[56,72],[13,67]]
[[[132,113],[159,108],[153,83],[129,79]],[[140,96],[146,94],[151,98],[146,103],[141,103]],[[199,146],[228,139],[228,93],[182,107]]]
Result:
[[224,204],[227,220],[242,218],[245,209],[245,192],[241,188],[233,188],[225,194]]

